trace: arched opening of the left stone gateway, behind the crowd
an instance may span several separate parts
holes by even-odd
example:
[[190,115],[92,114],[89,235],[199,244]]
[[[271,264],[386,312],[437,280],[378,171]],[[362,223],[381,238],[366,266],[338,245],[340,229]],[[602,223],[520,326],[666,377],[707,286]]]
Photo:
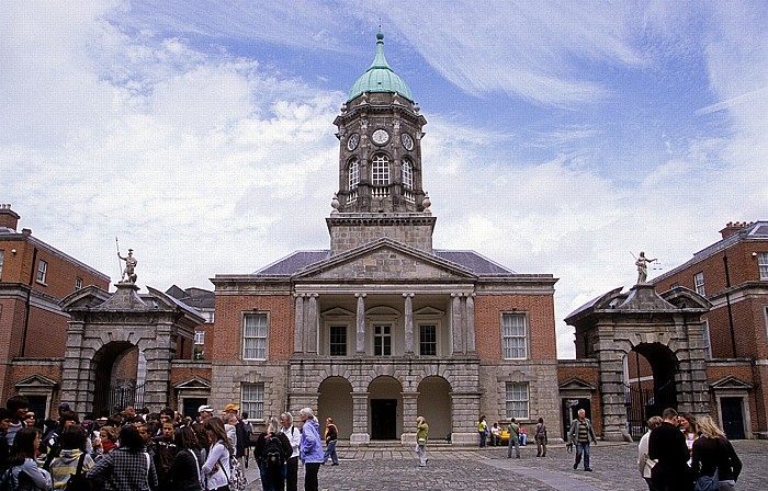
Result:
[[[146,361],[138,347],[115,341],[104,345],[93,356],[95,389],[93,413],[114,414],[127,406],[144,406]],[[139,366],[144,368],[139,374]]]

